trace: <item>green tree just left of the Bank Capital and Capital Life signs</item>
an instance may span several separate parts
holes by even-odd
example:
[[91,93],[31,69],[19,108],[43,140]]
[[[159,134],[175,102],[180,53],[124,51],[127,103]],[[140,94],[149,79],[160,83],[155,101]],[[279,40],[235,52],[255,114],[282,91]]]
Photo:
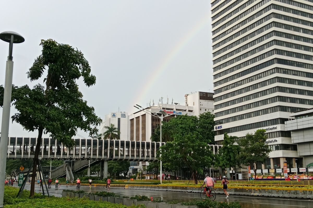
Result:
[[244,165],[250,165],[256,173],[256,169],[259,163],[264,164],[267,158],[269,158],[269,146],[266,144],[267,136],[265,129],[258,129],[254,134],[247,133],[245,138],[238,141],[241,147],[239,162]]

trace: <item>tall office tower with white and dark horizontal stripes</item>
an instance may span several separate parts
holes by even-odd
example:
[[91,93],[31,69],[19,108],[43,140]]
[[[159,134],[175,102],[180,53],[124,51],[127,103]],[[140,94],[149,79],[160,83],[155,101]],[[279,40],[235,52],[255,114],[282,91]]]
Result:
[[313,104],[313,1],[212,0],[215,141],[266,129],[258,169],[304,166],[284,122]]

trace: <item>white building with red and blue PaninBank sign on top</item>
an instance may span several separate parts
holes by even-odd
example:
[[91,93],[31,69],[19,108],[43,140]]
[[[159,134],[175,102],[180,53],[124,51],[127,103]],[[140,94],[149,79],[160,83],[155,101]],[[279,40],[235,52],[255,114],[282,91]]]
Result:
[[[160,119],[152,116],[149,111],[158,113],[160,110],[165,111],[167,114],[173,114],[165,117],[163,121],[168,121],[176,115],[194,115],[193,107],[187,105],[158,104],[157,106],[147,107],[145,111],[138,110],[129,116],[129,139],[131,141],[151,141],[150,137],[154,134],[156,127],[160,125]],[[179,111],[183,112],[175,114]]]

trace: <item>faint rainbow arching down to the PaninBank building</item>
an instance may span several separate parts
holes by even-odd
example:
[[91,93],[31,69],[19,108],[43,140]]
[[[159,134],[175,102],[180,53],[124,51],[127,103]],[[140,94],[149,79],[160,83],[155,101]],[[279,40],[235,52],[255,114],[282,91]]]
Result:
[[195,37],[203,28],[209,27],[211,22],[210,15],[206,15],[204,18],[202,18],[201,21],[199,21],[193,28],[190,30],[185,36],[181,38],[180,41],[172,48],[172,50],[167,53],[167,55],[160,61],[160,63],[155,67],[154,70],[152,70],[151,74],[148,76],[150,79],[148,79],[145,83],[145,87],[141,87],[141,92],[136,93],[138,96],[135,97],[135,99],[131,102],[131,104],[142,104],[143,99],[148,94],[151,87],[156,83],[156,80],[160,78],[164,70],[166,70],[169,63],[179,54],[180,51],[192,40],[193,37]]

